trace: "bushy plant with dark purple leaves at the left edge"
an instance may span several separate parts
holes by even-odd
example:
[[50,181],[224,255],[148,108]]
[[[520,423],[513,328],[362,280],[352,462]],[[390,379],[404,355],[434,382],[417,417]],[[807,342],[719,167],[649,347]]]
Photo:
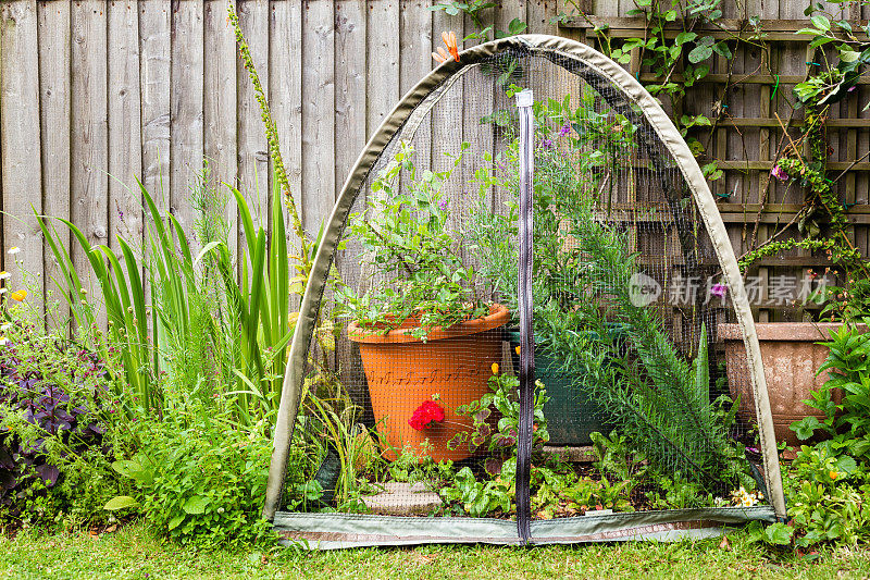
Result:
[[0,325],[0,527],[105,521],[102,504],[123,489],[112,456],[130,444],[114,429],[113,362],[13,304]]

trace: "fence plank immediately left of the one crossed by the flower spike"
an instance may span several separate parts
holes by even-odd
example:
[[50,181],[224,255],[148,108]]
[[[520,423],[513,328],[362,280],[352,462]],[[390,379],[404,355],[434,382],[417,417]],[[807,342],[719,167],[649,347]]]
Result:
[[[236,144],[237,76],[236,39],[227,24],[228,0],[206,2],[203,41],[204,91],[204,156],[209,162],[211,185],[223,187],[221,182],[237,185],[238,148]],[[235,256],[238,244],[238,208],[227,192],[226,218],[229,230],[227,243]]]

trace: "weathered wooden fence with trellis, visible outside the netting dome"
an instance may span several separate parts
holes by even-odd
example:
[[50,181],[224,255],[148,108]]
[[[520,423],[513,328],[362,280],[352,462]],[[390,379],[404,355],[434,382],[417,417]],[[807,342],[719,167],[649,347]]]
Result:
[[[306,227],[315,232],[366,137],[400,96],[432,67],[440,32],[471,22],[432,12],[433,0],[238,0],[241,25],[268,91],[291,187]],[[613,38],[637,36],[624,17],[630,0],[585,2]],[[212,175],[241,185],[265,207],[268,145],[247,72],[226,21],[227,0],[4,0],[0,3],[0,187],[2,247],[33,273],[51,273],[51,256],[33,211],[67,218],[91,243],[140,235],[134,178],[183,223],[192,220],[188,185],[203,158]],[[804,5],[794,0],[723,3],[725,27],[758,14],[769,51],[721,57],[693,89],[687,112],[716,120],[699,135],[725,176],[712,183],[737,254],[787,224],[803,193],[771,184],[782,139],[779,114],[792,115],[791,87],[807,72],[807,42],[794,35]],[[863,9],[867,11],[868,9]],[[529,32],[595,44],[584,18],[556,0],[505,0],[487,13],[497,28],[512,18]],[[867,14],[850,12],[857,20]],[[721,33],[717,33],[721,34]],[[649,73],[636,59],[629,65]],[[868,251],[870,100],[862,81],[832,110],[830,168],[848,170],[841,190],[855,239]],[[717,114],[719,113],[719,114]],[[794,115],[799,125],[801,113]],[[857,161],[857,163],[856,163]],[[765,192],[768,192],[765,194]],[[852,206],[854,203],[854,206]],[[257,205],[257,202],[254,202]],[[234,209],[229,209],[231,220]],[[755,223],[758,222],[756,229]],[[235,239],[238,229],[233,221]],[[72,247],[72,244],[71,244]],[[11,269],[3,251],[3,267]],[[76,261],[84,260],[74,251]],[[824,264],[801,252],[763,261],[765,279]],[[46,276],[44,276],[46,277]],[[37,281],[37,285],[45,282]],[[48,289],[50,284],[46,285]],[[776,306],[770,304],[769,306]],[[775,316],[788,316],[778,309]],[[762,318],[774,312],[762,310]]]

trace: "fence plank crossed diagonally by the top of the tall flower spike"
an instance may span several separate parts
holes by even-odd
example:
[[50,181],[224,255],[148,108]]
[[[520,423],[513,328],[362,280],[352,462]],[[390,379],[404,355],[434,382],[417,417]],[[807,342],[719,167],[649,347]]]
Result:
[[[260,75],[263,90],[269,95],[269,2],[246,0],[237,2],[239,24],[250,46],[251,58]],[[269,211],[269,143],[260,119],[260,107],[248,78],[248,71],[238,62],[238,178],[251,211],[265,217]],[[245,247],[245,234],[238,232],[239,248]]]

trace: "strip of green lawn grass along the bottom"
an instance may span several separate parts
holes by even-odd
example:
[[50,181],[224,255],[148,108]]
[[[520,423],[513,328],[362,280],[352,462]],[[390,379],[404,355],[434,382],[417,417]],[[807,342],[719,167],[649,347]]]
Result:
[[517,548],[420,546],[299,553],[204,553],[166,543],[141,523],[115,533],[0,538],[0,578],[868,578],[870,548],[800,558],[767,552],[742,532],[720,541]]

